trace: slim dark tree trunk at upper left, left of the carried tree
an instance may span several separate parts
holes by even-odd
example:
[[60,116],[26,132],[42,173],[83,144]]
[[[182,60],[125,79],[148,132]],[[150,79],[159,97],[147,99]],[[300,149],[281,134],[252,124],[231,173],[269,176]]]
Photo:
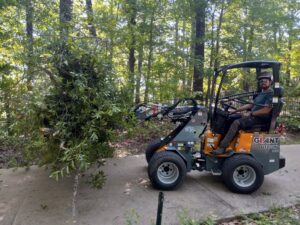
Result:
[[27,37],[27,89],[32,90],[33,80],[33,6],[26,0],[26,37]]

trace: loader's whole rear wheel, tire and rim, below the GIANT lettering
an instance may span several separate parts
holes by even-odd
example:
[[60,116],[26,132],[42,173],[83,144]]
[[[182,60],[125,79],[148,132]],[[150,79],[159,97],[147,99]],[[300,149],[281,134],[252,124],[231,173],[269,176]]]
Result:
[[223,164],[222,178],[233,192],[248,194],[264,181],[262,166],[249,155],[234,155]]

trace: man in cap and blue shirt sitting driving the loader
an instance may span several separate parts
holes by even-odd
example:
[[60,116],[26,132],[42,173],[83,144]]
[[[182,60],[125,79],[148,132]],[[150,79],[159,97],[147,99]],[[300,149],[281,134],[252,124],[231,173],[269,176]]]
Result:
[[227,134],[222,139],[219,147],[213,151],[214,155],[224,154],[239,130],[249,130],[254,125],[263,125],[270,122],[272,111],[272,99],[274,91],[271,88],[273,75],[269,72],[262,72],[258,77],[261,92],[254,99],[254,104],[246,104],[232,113],[251,110],[243,114],[242,118],[234,120]]

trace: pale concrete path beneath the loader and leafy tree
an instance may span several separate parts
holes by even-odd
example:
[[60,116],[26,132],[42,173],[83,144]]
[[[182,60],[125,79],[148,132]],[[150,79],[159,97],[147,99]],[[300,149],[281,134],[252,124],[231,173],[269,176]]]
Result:
[[[209,173],[189,173],[178,190],[164,192],[163,224],[179,224],[178,214],[184,210],[191,218],[222,218],[299,203],[300,145],[282,146],[282,155],[286,167],[266,176],[251,195],[229,192],[220,177]],[[35,167],[0,170],[0,224],[119,225],[133,215],[138,215],[137,224],[155,224],[158,191],[149,184],[144,156],[110,159],[103,169],[107,181],[102,190],[89,188],[86,177],[80,179],[75,218],[71,178],[56,182]]]

